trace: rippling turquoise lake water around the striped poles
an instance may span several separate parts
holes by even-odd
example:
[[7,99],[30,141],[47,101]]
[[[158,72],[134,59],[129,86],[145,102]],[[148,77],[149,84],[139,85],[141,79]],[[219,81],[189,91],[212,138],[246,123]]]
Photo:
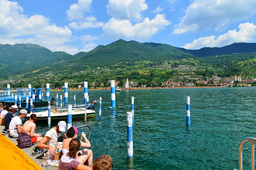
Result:
[[[64,96],[64,91],[50,91],[50,97],[56,94]],[[69,104],[73,95],[77,104],[83,103],[82,90],[68,91]],[[256,137],[256,87],[121,90],[116,92],[116,113],[108,109],[110,90],[89,90],[88,95],[90,101],[102,97],[102,117],[97,105],[95,117],[74,119],[73,126],[90,125],[93,160],[109,154],[113,169],[238,169],[241,141]],[[132,96],[134,156],[128,160],[126,112],[131,111]],[[47,122],[37,122],[36,131],[47,130]],[[79,131],[88,134],[86,128]],[[244,169],[251,166],[250,146],[244,145]]]

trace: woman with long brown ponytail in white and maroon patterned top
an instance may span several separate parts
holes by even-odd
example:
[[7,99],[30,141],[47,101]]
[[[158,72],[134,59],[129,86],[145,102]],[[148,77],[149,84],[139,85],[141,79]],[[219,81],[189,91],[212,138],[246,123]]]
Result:
[[[71,127],[72,128],[72,127]],[[77,138],[73,138],[70,140],[68,144],[68,153],[63,153],[60,163],[59,163],[59,170],[66,170],[66,169],[85,169],[85,170],[91,170],[92,167],[83,165],[83,163],[80,162],[81,157],[78,157],[78,150],[80,149],[81,142]]]

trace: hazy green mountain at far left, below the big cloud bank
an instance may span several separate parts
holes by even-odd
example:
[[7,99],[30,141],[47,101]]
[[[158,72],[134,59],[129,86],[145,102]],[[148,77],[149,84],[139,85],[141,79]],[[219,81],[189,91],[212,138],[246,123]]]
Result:
[[73,58],[66,52],[52,52],[37,44],[0,44],[0,57],[3,77],[34,71]]

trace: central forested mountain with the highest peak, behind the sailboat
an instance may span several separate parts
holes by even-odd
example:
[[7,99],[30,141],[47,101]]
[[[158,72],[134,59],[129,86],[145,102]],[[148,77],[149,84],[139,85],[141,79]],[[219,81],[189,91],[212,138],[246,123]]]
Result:
[[192,54],[183,52],[168,44],[139,43],[137,41],[124,41],[119,39],[106,46],[98,46],[92,51],[76,58],[77,66],[92,65],[103,67],[117,62],[134,62],[150,60],[164,61],[170,58],[192,57]]

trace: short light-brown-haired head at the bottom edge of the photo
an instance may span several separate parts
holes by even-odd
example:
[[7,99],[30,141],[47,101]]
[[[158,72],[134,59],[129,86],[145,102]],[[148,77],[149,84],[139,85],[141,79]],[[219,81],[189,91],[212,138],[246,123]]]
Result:
[[93,170],[111,170],[113,166],[113,160],[109,155],[102,155],[93,162]]

